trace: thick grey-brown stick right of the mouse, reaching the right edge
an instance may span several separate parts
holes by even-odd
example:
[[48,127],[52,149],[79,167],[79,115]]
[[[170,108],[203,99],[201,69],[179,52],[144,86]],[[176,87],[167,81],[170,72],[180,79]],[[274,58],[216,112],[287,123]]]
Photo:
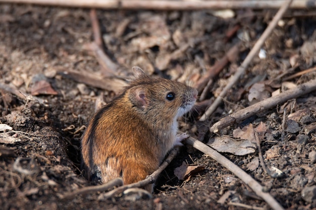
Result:
[[265,111],[267,109],[270,109],[272,107],[275,107],[279,104],[282,104],[290,99],[297,98],[301,95],[304,95],[306,93],[310,93],[312,91],[316,90],[316,79],[311,80],[307,83],[301,84],[297,86],[296,88],[287,90],[283,93],[280,93],[279,95],[272,96],[266,100],[260,101],[258,103],[255,103],[251,106],[248,106],[242,110],[239,110],[237,112],[234,112],[224,118],[222,118],[220,121],[213,124],[212,127],[209,128],[210,132],[218,132],[219,130],[232,125],[236,122],[240,122],[256,113],[259,113],[261,111]]

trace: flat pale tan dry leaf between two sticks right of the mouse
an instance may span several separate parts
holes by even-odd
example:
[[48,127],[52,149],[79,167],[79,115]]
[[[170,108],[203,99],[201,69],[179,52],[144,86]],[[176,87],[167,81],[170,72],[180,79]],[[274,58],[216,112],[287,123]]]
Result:
[[247,155],[254,153],[256,145],[247,139],[236,140],[228,136],[217,136],[209,139],[208,146],[222,153],[232,153],[234,155]]

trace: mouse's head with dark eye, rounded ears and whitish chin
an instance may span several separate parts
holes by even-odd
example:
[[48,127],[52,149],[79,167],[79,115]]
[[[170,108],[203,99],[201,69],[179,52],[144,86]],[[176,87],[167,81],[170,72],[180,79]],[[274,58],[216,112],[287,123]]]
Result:
[[129,99],[146,118],[176,119],[193,107],[196,89],[163,78],[151,79],[139,67],[133,67],[133,72],[136,79],[130,84]]

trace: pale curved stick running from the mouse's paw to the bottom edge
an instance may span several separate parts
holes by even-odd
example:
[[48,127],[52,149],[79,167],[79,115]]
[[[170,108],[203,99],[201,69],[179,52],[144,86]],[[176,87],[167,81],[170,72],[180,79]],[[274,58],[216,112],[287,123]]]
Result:
[[195,149],[205,153],[209,157],[216,160],[218,163],[222,164],[225,168],[230,170],[237,177],[239,177],[243,182],[245,182],[258,196],[264,199],[273,209],[275,210],[284,209],[280,205],[280,203],[278,203],[274,199],[274,197],[272,197],[268,192],[264,192],[264,188],[256,180],[254,180],[249,174],[244,172],[241,168],[239,168],[230,160],[222,156],[216,150],[208,147],[207,145],[201,143],[200,141],[196,140],[193,137],[184,139],[183,142],[185,142],[188,145],[193,146]]

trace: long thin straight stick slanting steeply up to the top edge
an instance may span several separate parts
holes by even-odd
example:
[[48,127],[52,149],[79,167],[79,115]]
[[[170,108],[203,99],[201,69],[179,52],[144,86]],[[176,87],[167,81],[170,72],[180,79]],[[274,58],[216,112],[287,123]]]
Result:
[[245,73],[252,58],[258,53],[260,47],[264,44],[268,36],[271,34],[272,30],[277,26],[278,21],[282,18],[283,14],[286,12],[288,7],[291,5],[293,0],[288,0],[284,2],[284,5],[280,8],[278,13],[274,16],[273,20],[270,22],[269,26],[266,28],[265,32],[260,36],[257,42],[254,44],[253,48],[250,50],[249,54],[241,65],[237,68],[236,74],[229,79],[229,83],[222,90],[220,95],[216,98],[214,103],[205,111],[205,113],[199,119],[200,121],[206,120],[222,103],[223,98],[226,96],[227,92],[236,84],[239,78]]

